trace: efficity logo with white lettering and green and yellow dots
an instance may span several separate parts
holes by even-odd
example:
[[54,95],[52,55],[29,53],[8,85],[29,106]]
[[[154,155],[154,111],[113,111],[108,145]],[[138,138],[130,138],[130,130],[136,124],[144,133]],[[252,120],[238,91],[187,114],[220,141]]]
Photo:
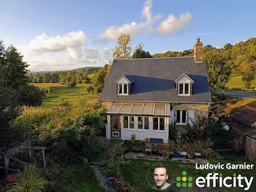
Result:
[[[221,173],[208,173],[206,177],[197,177],[195,179],[195,185],[199,188],[244,188],[244,191],[248,191],[252,185],[254,177],[243,177],[241,174],[233,174],[233,177],[224,177]],[[179,187],[192,187],[192,177],[187,177],[187,172],[182,172],[182,177],[176,177],[176,186]]]

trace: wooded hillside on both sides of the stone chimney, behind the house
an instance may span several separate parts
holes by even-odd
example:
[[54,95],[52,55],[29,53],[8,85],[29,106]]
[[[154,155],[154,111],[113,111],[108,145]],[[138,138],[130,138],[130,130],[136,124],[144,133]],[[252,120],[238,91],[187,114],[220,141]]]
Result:
[[[157,53],[152,56],[154,58],[165,58],[192,55],[193,49],[184,50],[183,52],[167,51],[165,53]],[[206,45],[203,47],[203,61],[206,63],[208,77],[210,77],[210,79],[215,76],[214,74],[217,74],[216,69],[218,70],[219,68],[220,70],[224,70],[225,75],[223,76],[221,74],[222,77],[224,77],[224,81],[219,84],[214,82],[215,85],[223,85],[222,87],[224,88],[225,82],[229,80],[230,74],[243,74],[244,85],[246,88],[250,88],[251,82],[255,79],[256,73],[256,38],[251,38],[244,42],[238,42],[236,45],[227,43],[220,49],[212,47],[211,45]],[[219,77],[218,74],[216,77]],[[216,89],[212,91],[217,91]]]

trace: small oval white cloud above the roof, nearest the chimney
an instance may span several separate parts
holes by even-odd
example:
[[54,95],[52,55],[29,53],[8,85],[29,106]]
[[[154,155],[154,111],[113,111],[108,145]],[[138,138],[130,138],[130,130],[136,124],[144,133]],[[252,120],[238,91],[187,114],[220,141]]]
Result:
[[157,34],[170,35],[177,31],[181,31],[192,21],[192,15],[189,12],[181,14],[179,18],[169,15],[168,18],[159,24],[156,29]]

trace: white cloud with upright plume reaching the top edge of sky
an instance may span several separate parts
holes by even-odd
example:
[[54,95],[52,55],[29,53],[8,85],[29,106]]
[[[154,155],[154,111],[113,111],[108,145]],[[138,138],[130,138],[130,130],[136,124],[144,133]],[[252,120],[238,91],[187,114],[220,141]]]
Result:
[[100,37],[102,39],[113,40],[118,39],[121,34],[129,34],[131,37],[136,37],[145,31],[150,31],[154,22],[161,18],[160,15],[152,18],[151,8],[152,0],[147,0],[142,9],[142,16],[143,18],[146,18],[145,23],[136,23],[135,21],[132,21],[131,23],[126,23],[124,26],[120,27],[110,26],[103,32]]

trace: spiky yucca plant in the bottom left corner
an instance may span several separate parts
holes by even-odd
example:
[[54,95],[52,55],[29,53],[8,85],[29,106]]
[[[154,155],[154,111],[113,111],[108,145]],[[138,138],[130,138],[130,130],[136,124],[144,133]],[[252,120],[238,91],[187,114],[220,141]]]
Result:
[[23,172],[16,174],[16,182],[10,185],[7,192],[41,192],[47,183],[34,166],[25,166]]

